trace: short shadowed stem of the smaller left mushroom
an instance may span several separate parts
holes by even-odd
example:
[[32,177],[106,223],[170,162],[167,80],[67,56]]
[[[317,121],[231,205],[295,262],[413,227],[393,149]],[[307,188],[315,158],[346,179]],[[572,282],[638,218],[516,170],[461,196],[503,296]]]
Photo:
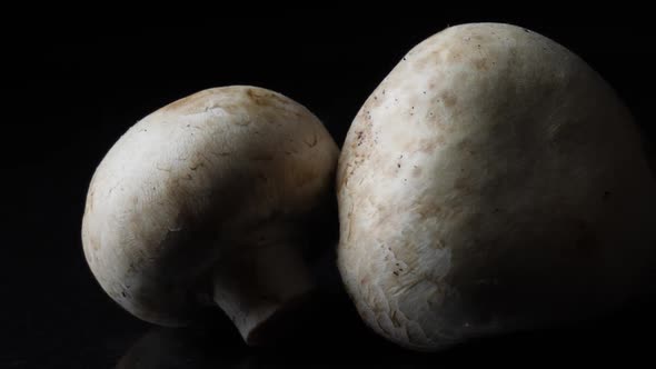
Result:
[[228,315],[248,345],[277,333],[274,321],[294,309],[315,285],[298,248],[261,245],[216,267],[213,300]]

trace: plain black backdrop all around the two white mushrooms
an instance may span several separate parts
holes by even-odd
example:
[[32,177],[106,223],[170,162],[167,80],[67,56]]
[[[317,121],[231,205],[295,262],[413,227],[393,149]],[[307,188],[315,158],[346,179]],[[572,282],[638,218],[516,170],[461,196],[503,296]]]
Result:
[[[312,14],[310,14],[312,16]],[[316,16],[316,14],[315,14]],[[192,28],[120,23],[49,26],[16,34],[17,117],[7,124],[6,226],[0,287],[1,368],[258,368],[270,363],[438,367],[477,360],[530,365],[648,358],[653,299],[567,329],[513,335],[446,352],[407,352],[370,333],[339,290],[330,253],[322,295],[296,339],[246,348],[218,317],[211,329],[159,329],[116,306],[93,280],[81,251],[83,201],[96,166],[137,120],[201,89],[252,84],[308,107],[338,144],[378,82],[416,43],[447,24],[506,21],[540,32],[583,57],[616,89],[654,142],[654,60],[648,24],[523,17],[378,19],[226,18]],[[636,26],[643,24],[643,26]],[[19,32],[19,31],[17,31]],[[10,34],[11,36],[11,34]],[[11,164],[16,164],[11,168]],[[18,195],[13,195],[18,193]],[[332,239],[326,240],[329,245]],[[7,252],[7,251],[6,251]],[[527,361],[524,361],[527,360]]]

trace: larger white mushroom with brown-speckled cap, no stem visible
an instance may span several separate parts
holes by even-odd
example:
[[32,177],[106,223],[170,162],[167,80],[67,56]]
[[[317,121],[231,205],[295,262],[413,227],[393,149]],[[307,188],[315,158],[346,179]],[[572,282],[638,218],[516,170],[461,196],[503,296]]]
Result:
[[577,56],[501,23],[416,46],[339,159],[338,267],[406,348],[599,317],[640,292],[656,181],[633,118]]

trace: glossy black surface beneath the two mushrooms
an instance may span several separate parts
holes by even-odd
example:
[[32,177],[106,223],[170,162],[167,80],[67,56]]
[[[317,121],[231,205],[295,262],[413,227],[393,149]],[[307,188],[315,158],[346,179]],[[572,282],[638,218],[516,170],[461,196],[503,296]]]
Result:
[[[341,295],[317,297],[274,347],[251,348],[217,315],[203,327],[160,328],[121,311],[81,311],[59,325],[19,331],[22,345],[0,368],[444,368],[463,365],[531,366],[573,360],[604,363],[652,360],[656,331],[653,300],[573,327],[479,339],[435,353],[411,352],[371,333]],[[11,347],[11,346],[10,346]],[[7,346],[4,346],[7,349]],[[16,347],[14,347],[16,348]]]

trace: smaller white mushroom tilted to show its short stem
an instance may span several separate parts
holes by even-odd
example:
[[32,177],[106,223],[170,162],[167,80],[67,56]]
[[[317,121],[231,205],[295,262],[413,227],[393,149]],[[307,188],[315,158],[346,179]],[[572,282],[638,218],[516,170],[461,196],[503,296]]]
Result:
[[218,305],[260,343],[312,289],[307,225],[332,202],[338,156],[319,119],[274,91],[232,86],[172,102],[98,166],[87,262],[142,320],[183,326]]

